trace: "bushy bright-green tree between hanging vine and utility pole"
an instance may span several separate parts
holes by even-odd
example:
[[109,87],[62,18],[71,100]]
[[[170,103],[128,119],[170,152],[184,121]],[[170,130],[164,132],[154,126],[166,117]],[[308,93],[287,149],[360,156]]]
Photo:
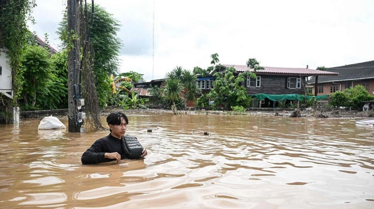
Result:
[[45,92],[50,88],[50,79],[52,78],[52,64],[49,59],[48,51],[40,46],[28,45],[25,49],[23,58],[23,76],[25,83],[22,88],[25,105],[28,106],[28,95],[31,96],[31,107],[36,104],[36,93]]

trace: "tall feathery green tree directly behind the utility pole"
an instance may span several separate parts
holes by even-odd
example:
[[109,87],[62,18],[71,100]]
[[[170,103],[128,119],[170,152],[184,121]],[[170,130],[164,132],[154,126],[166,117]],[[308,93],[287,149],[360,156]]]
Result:
[[[89,6],[89,5],[88,5]],[[89,6],[91,7],[91,6]],[[119,51],[123,46],[121,39],[117,36],[120,24],[117,19],[108,13],[103,7],[95,4],[93,15],[93,26],[91,29],[91,45],[94,51],[93,72],[96,76],[96,86],[99,99],[99,106],[104,107],[111,96],[111,86],[108,76],[116,74],[119,69]],[[89,21],[91,20],[91,10],[88,11]],[[66,16],[59,23],[57,34],[66,47],[69,40],[66,36],[67,18]]]

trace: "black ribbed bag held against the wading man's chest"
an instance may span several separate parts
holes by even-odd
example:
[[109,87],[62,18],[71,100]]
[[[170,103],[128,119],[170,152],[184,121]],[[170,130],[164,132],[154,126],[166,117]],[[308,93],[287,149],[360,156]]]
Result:
[[128,159],[140,159],[143,147],[137,140],[137,137],[125,135],[121,137],[122,149]]

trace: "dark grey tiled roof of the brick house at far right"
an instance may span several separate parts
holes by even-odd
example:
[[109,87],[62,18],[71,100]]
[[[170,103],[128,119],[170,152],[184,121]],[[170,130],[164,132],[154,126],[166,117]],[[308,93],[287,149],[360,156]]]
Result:
[[[357,80],[374,77],[374,60],[364,63],[349,64],[339,67],[331,67],[327,69],[330,72],[339,73],[336,77],[318,76],[318,83],[332,82],[339,80]],[[316,79],[313,77],[308,83],[315,83]]]

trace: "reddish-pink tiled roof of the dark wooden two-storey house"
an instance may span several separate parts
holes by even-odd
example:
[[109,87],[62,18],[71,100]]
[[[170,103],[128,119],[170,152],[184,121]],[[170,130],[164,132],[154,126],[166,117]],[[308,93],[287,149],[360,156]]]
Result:
[[[237,64],[221,64],[224,67],[234,67],[237,72],[244,72],[246,70],[251,70],[246,65],[237,65]],[[301,74],[301,75],[338,75],[334,72],[322,71],[322,70],[313,70],[307,68],[289,68],[289,67],[264,67],[264,70],[258,70],[256,73],[275,73],[275,74]]]

